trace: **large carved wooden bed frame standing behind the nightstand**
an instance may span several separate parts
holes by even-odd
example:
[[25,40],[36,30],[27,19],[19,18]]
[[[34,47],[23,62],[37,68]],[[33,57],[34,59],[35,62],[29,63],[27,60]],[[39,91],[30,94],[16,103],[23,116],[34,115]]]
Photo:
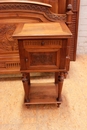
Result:
[[[67,19],[69,14],[66,14],[70,10],[67,9],[69,4],[72,4],[73,11],[70,21]],[[12,34],[21,23],[65,21],[73,34],[69,56],[75,60],[78,12],[79,0],[0,0],[0,74],[20,72],[18,43]]]

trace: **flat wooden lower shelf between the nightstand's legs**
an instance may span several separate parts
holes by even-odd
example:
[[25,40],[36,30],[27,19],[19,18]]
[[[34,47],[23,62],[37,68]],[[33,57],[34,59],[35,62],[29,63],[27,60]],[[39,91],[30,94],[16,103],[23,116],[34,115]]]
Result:
[[35,85],[30,87],[30,102],[28,104],[61,104],[57,101],[57,85]]

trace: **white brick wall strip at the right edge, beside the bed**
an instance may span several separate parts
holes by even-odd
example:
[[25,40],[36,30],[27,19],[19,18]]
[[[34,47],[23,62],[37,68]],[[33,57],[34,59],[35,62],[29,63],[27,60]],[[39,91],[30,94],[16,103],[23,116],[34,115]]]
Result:
[[87,54],[87,0],[80,0],[77,54]]

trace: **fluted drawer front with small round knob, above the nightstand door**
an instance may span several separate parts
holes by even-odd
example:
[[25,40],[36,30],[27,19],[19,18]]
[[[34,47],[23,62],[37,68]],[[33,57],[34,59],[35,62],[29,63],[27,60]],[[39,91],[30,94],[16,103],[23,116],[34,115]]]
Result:
[[61,48],[62,40],[23,40],[24,48]]

